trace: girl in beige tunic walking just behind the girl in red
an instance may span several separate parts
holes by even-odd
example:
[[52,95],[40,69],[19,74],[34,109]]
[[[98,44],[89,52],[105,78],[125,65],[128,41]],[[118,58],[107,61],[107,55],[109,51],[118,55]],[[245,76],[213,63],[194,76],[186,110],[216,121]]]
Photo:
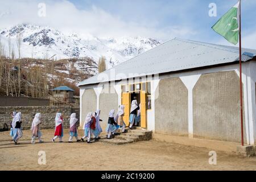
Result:
[[32,140],[31,140],[31,143],[32,144],[35,144],[35,139],[36,137],[38,137],[39,139],[39,143],[42,143],[42,133],[39,129],[39,125],[40,123],[42,123],[42,120],[41,120],[41,113],[36,113],[35,114],[35,117],[33,119],[33,122],[32,122],[32,125],[31,125],[31,130],[32,130]]

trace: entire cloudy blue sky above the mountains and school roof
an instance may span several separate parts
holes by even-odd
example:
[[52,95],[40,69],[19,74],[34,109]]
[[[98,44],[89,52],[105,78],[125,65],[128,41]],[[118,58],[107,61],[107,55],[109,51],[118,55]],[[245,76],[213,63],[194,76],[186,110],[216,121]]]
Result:
[[[174,37],[230,45],[210,27],[237,0],[0,0],[0,28],[32,23],[80,35]],[[46,5],[46,16],[39,3]],[[209,4],[217,16],[209,16]],[[256,1],[242,0],[243,47],[256,49]]]

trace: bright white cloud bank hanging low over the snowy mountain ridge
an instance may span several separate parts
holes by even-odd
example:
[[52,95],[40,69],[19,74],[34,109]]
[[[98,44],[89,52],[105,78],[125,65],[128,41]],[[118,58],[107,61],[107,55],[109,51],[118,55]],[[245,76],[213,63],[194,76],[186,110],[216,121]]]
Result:
[[[20,23],[32,23],[57,28],[64,32],[92,34],[94,36],[143,36],[168,40],[175,36],[188,38],[195,35],[189,27],[169,26],[156,28],[138,22],[127,22],[118,16],[93,6],[89,10],[79,10],[65,0],[45,1],[46,17],[38,16],[38,3],[41,1],[0,0],[0,28]],[[157,24],[157,23],[154,23]]]

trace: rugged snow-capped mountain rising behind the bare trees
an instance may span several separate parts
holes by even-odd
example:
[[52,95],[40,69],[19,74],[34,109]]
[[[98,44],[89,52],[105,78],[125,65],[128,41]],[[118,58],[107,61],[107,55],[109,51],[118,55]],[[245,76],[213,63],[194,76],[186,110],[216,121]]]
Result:
[[2,43],[8,49],[10,38],[16,57],[18,35],[22,35],[21,57],[56,60],[89,57],[97,61],[105,56],[108,68],[162,43],[151,38],[98,38],[93,35],[64,34],[51,27],[20,24],[0,30]]

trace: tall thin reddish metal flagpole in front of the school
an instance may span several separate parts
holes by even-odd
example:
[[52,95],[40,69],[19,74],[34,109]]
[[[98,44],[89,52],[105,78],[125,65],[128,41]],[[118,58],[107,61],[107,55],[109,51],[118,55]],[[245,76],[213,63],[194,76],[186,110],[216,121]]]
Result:
[[240,112],[241,112],[241,144],[243,146],[243,94],[242,94],[242,43],[241,43],[241,0],[239,3],[239,64],[240,64]]

